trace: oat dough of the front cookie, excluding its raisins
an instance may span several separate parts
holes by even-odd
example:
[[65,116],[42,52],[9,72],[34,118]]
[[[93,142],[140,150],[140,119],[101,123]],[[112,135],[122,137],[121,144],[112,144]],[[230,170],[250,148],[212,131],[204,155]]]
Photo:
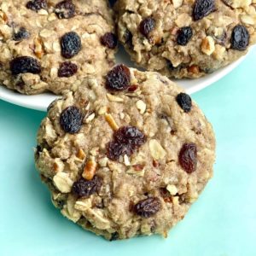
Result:
[[[137,84],[133,92],[111,93],[105,81],[88,79],[86,86],[53,102],[38,131],[35,154],[55,207],[85,230],[109,240],[167,236],[212,177],[215,160],[212,125],[196,103],[185,113],[176,102],[182,91],[176,84],[159,73],[130,71],[132,86]],[[71,106],[84,114],[76,134],[65,133],[60,125],[61,113]],[[106,145],[113,140],[113,129],[126,125],[143,131],[146,143],[130,157],[109,160]],[[196,171],[190,174],[178,163],[183,143],[197,147]],[[88,161],[96,166],[102,186],[98,193],[79,198],[72,187]],[[132,206],[148,197],[159,198],[160,210],[144,218]]]

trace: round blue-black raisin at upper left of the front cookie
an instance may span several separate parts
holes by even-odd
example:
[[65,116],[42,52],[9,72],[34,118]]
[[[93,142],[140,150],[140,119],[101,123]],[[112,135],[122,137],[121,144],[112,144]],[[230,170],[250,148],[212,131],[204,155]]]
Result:
[[64,131],[70,134],[78,133],[82,127],[82,123],[83,114],[79,108],[71,106],[61,112],[60,125]]

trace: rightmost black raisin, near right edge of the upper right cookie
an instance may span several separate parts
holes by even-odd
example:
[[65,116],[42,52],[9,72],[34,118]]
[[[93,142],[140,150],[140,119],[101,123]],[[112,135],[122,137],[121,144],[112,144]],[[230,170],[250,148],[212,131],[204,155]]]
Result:
[[245,50],[249,44],[250,35],[245,26],[237,25],[231,35],[232,49]]

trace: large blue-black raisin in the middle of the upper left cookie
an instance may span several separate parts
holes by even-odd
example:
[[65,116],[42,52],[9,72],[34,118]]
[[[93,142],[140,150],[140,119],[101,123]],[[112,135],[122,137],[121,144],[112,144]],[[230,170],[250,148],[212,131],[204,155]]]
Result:
[[81,48],[81,39],[76,32],[68,32],[61,38],[61,55],[64,58],[71,59]]

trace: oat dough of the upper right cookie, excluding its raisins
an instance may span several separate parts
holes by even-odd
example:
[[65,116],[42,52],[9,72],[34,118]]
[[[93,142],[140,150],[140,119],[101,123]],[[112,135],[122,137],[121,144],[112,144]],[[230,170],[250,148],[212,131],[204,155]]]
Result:
[[[245,26],[250,34],[249,44],[255,44],[255,0],[208,1],[214,2],[215,10],[196,21],[193,19],[195,2],[119,0],[116,3],[119,40],[137,66],[177,79],[199,78],[247,53],[247,50],[231,49],[235,26]],[[148,17],[155,20],[155,26],[145,37],[139,25]],[[186,26],[192,28],[193,36],[187,45],[178,45],[177,34]]]

